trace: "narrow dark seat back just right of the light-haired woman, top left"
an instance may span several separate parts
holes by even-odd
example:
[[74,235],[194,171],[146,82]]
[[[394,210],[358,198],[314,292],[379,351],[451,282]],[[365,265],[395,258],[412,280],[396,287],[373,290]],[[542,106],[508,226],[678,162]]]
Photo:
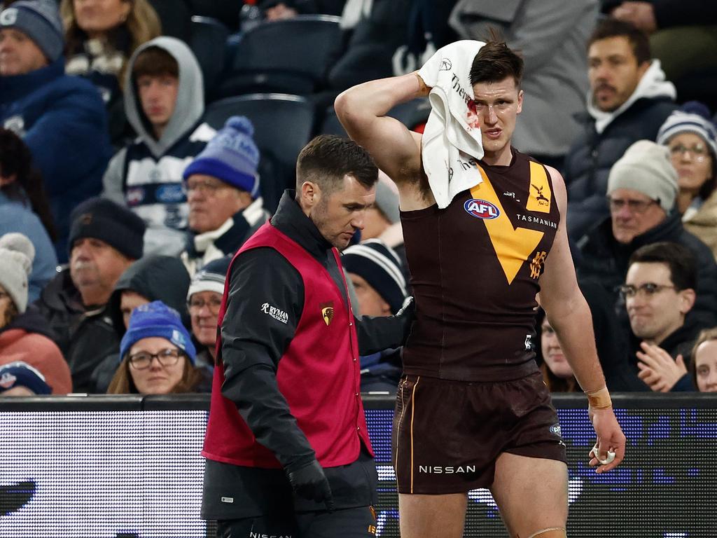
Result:
[[204,94],[211,100],[212,90],[224,69],[224,52],[229,31],[224,24],[208,16],[191,17],[189,47],[196,56],[204,76]]

